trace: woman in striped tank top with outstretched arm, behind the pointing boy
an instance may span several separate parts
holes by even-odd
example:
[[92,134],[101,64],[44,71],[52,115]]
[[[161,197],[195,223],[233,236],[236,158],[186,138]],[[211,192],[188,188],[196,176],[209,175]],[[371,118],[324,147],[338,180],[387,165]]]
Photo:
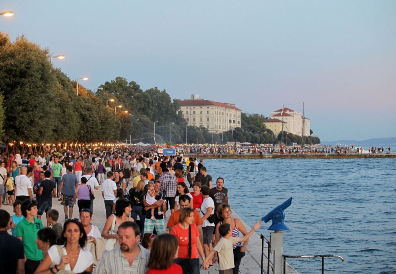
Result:
[[[231,207],[228,204],[221,204],[217,207],[217,218],[220,220],[219,223],[216,225],[215,230],[215,242],[216,245],[220,240],[220,233],[219,233],[219,226],[223,223],[230,224],[232,230],[232,237],[240,237],[240,232],[245,236],[247,234],[246,228],[238,219],[231,218]],[[232,273],[237,274],[239,273],[239,266],[241,264],[242,257],[245,256],[247,243],[249,239],[247,239],[244,244],[237,243],[232,246],[233,253],[234,253],[234,265],[235,267],[232,268]],[[217,254],[214,255],[215,261],[217,261]]]

